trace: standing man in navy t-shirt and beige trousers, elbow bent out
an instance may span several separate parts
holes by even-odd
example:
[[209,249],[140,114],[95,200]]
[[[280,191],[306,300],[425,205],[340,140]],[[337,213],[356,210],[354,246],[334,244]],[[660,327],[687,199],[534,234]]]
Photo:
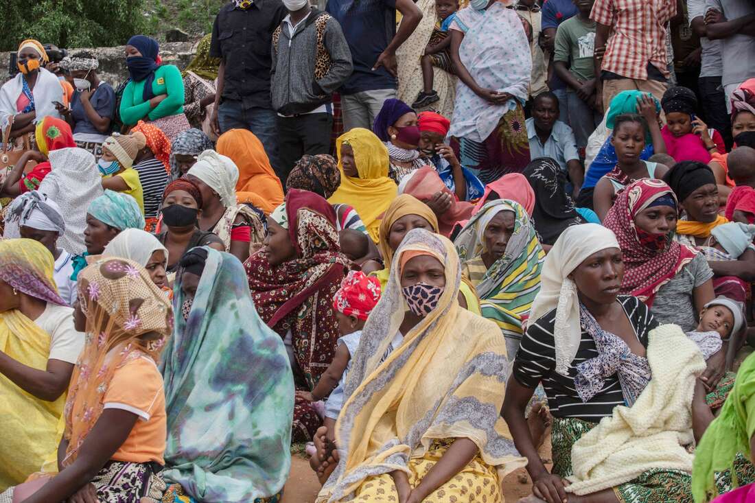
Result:
[[[396,10],[402,14],[398,30]],[[354,64],[341,87],[344,131],[372,129],[384,101],[396,97],[396,49],[417,28],[422,13],[411,0],[328,0],[325,11],[341,23]]]

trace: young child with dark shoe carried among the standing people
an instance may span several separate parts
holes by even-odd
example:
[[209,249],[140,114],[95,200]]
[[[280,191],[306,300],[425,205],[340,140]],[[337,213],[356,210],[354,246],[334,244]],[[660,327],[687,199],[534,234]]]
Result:
[[437,66],[448,73],[454,72],[451,56],[448,54],[448,50],[451,48],[451,36],[448,34],[448,27],[451,26],[458,10],[458,0],[435,1],[438,21],[435,23],[433,34],[430,35],[430,42],[427,42],[427,47],[421,58],[424,89],[417,95],[414,103],[411,103],[411,108],[415,110],[427,108],[427,106],[440,100],[438,93],[433,89],[433,66]]

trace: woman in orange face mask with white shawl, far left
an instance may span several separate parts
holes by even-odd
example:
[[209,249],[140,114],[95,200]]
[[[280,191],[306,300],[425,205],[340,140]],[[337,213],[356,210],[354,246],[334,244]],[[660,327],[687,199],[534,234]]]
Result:
[[11,125],[11,140],[32,133],[42,117],[61,119],[56,110],[63,103],[63,87],[57,77],[42,68],[48,55],[42,44],[26,39],[16,52],[17,75],[0,88],[0,131]]

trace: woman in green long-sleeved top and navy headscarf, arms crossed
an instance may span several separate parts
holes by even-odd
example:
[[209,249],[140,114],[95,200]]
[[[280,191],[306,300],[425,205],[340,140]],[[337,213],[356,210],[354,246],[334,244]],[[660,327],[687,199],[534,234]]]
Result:
[[160,64],[155,39],[134,35],[126,43],[126,66],[130,82],[123,90],[121,121],[126,126],[143,120],[153,122],[171,140],[190,128],[183,115],[183,78],[175,65]]

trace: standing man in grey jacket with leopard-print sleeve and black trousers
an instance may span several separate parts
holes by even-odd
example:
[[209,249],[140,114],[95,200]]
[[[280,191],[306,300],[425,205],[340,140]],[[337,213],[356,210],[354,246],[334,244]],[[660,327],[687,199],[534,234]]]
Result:
[[308,0],[283,0],[288,16],[273,32],[273,108],[278,113],[279,166],[288,173],[304,154],[330,152],[331,94],[351,75],[341,26]]

